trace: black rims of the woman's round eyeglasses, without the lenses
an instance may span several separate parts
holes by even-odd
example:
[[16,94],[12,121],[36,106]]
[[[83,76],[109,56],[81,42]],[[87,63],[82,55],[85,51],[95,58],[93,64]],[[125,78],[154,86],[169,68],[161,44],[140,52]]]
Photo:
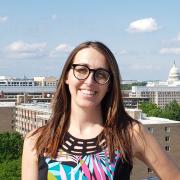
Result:
[[[86,78],[78,78],[78,77],[75,75],[74,70],[75,70],[76,66],[83,66],[83,67],[86,67],[86,68],[88,69],[89,73],[88,73],[88,75],[87,75]],[[100,84],[100,85],[106,84],[106,83],[110,80],[110,78],[111,78],[111,73],[110,73],[108,70],[103,69],[103,68],[91,69],[91,68],[89,68],[87,65],[84,65],[84,64],[72,64],[70,69],[73,69],[74,77],[75,77],[76,79],[78,79],[78,80],[85,80],[85,79],[87,79],[87,78],[89,77],[90,73],[93,72],[93,79],[94,79],[94,81],[95,81],[96,83]],[[109,75],[109,76],[108,76],[108,79],[107,79],[107,81],[105,81],[105,83],[99,83],[99,82],[96,80],[95,74],[96,74],[99,70],[103,70],[103,71],[107,72],[108,75]]]

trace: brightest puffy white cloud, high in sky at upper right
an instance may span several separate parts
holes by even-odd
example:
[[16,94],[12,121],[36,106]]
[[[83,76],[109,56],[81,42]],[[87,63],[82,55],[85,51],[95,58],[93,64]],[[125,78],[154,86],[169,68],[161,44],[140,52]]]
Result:
[[158,24],[153,18],[145,18],[133,21],[129,24],[129,32],[152,32],[158,30]]

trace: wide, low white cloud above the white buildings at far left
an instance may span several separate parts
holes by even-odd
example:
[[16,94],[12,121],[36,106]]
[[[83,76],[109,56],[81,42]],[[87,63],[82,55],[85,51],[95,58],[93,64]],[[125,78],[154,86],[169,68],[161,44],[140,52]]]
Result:
[[11,58],[37,58],[45,56],[46,47],[46,43],[15,41],[5,48],[5,52]]

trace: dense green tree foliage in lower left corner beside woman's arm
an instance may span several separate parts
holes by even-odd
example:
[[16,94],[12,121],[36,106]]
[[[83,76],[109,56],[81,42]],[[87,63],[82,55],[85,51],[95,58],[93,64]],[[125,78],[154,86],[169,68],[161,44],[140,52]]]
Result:
[[17,132],[0,133],[0,179],[21,179],[23,138]]

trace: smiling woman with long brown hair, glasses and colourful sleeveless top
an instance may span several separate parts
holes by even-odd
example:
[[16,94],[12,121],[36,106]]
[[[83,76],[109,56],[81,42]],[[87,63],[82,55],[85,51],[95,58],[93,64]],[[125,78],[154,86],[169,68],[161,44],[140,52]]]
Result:
[[52,116],[24,141],[22,179],[130,179],[133,158],[163,180],[178,167],[123,106],[112,52],[85,42],[69,55],[53,99]]

